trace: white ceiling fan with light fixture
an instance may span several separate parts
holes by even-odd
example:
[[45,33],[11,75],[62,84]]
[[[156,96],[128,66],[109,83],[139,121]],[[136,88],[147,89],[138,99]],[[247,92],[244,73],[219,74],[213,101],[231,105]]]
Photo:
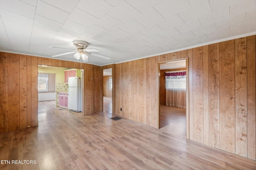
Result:
[[[74,46],[76,47],[76,50],[75,49],[69,49],[69,50],[74,50],[74,51],[68,52],[68,53],[63,53],[63,54],[58,54],[58,55],[53,55],[52,57],[58,57],[58,56],[62,56],[62,55],[75,53],[74,57],[78,60],[80,58],[82,58],[82,60],[84,62],[88,61],[88,55],[87,54],[94,55],[96,57],[101,57],[103,59],[108,59],[108,60],[110,59],[110,57],[107,57],[107,56],[104,56],[104,55],[99,55],[99,54],[96,54],[96,53],[92,53],[92,52],[100,52],[100,50],[98,50],[98,49],[87,49],[89,43],[87,43],[86,41],[75,40],[75,41],[73,41],[73,43],[74,43]],[[60,47],[52,47],[52,48],[67,49],[67,48],[60,48]]]

